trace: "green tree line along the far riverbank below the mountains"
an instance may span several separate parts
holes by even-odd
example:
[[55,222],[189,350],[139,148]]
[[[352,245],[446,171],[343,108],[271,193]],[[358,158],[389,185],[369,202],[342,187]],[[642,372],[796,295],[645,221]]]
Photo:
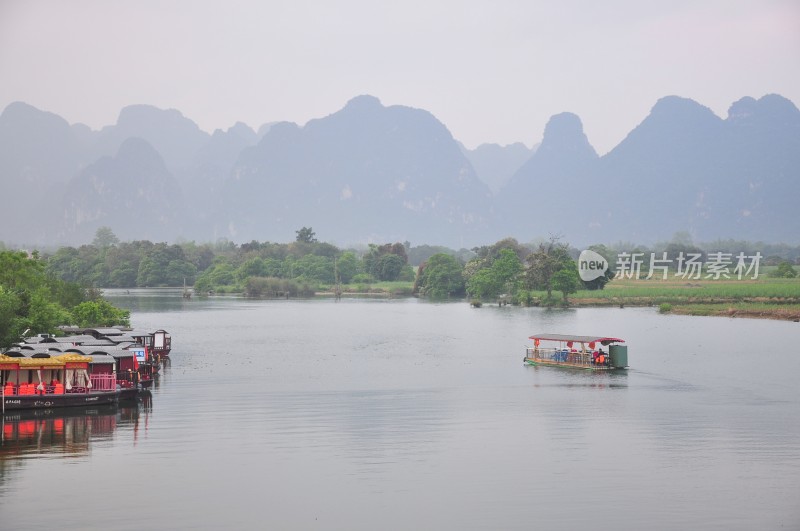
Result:
[[[705,253],[712,248],[751,252],[754,247],[765,253],[768,264],[778,257],[797,260],[800,256],[800,247],[783,244],[718,241],[698,246],[688,233],[676,233],[671,242],[656,244],[653,249],[673,256],[679,252]],[[554,292],[566,302],[578,289],[602,289],[612,276],[620,250],[643,253],[643,267],[647,267],[646,246],[620,243],[589,249],[611,265],[606,277],[591,283],[583,283],[577,275],[574,259],[579,250],[559,238],[536,244],[520,244],[509,238],[458,251],[428,245],[412,247],[409,242],[340,249],[320,242],[310,227],[297,230],[293,242],[251,241],[239,245],[225,239],[202,244],[120,242],[111,229],[102,227],[91,244],[60,248],[46,256],[45,262],[48,274],[54,277],[98,288],[185,285],[201,294],[240,292],[264,297],[312,295],[342,284],[401,281],[413,284],[413,293],[419,296],[469,296],[476,301],[506,296],[526,304],[532,302],[533,292],[545,292],[550,303]]]

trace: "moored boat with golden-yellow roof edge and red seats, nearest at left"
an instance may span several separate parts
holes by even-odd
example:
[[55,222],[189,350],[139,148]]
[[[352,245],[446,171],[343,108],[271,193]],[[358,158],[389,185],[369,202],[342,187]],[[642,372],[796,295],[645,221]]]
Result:
[[21,351],[0,354],[2,413],[21,409],[115,404],[114,374],[90,374],[89,356],[78,353]]

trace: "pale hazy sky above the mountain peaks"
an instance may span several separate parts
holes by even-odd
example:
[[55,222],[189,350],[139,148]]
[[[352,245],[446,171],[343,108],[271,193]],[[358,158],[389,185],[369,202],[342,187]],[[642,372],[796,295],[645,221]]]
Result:
[[93,129],[134,103],[302,125],[371,94],[470,148],[574,112],[602,154],[662,96],[725,117],[768,93],[800,105],[800,0],[0,0],[0,109]]

